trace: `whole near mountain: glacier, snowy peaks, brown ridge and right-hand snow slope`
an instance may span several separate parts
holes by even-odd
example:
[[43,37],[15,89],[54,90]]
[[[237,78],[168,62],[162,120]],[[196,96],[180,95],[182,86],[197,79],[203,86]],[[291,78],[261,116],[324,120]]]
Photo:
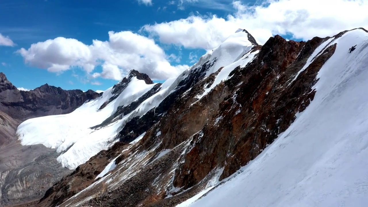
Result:
[[365,206],[368,32],[238,29],[177,78],[131,71],[67,115],[26,120],[75,169],[37,206]]

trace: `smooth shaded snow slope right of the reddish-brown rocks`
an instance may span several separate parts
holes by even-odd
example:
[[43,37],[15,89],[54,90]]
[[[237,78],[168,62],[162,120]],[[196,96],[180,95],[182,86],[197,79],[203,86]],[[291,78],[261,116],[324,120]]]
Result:
[[334,43],[314,100],[289,129],[240,174],[187,206],[367,206],[368,33],[356,29]]

